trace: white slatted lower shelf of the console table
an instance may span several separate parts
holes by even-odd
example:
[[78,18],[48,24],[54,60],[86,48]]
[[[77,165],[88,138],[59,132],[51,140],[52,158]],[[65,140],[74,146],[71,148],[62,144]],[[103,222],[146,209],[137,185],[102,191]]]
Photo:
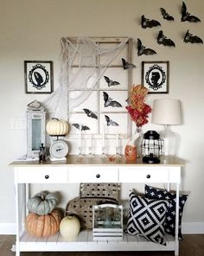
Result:
[[175,240],[167,235],[167,246],[149,242],[140,236],[124,234],[123,240],[93,240],[92,230],[81,231],[76,240],[65,241],[61,234],[47,239],[37,239],[22,234],[20,241],[22,252],[77,252],[77,251],[175,251]]

